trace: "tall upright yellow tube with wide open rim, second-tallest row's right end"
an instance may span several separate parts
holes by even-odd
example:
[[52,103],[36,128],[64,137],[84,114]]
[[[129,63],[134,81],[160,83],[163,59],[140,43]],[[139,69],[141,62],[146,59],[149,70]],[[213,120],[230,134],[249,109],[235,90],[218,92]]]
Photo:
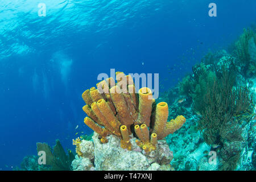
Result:
[[152,111],[152,92],[149,88],[139,89],[139,116],[138,123],[144,123],[150,127],[150,116]]

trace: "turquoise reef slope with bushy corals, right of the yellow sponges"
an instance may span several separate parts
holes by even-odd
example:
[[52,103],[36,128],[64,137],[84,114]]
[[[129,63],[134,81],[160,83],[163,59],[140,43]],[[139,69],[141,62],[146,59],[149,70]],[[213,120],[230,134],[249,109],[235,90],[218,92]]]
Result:
[[[160,98],[174,101],[168,102],[172,112],[182,106],[184,116],[191,118],[166,138],[174,151],[171,165],[176,170],[253,170],[256,80],[245,82],[236,56],[214,54],[205,56],[193,75],[179,83],[179,92],[175,87]],[[217,154],[214,164],[208,162],[210,151]]]

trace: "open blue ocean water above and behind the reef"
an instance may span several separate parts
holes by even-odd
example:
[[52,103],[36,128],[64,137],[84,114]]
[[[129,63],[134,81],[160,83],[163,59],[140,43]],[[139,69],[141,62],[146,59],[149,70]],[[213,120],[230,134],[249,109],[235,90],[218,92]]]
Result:
[[0,170],[35,155],[36,142],[74,150],[75,134],[92,132],[81,94],[99,73],[159,73],[164,92],[256,20],[255,0],[214,0],[217,17],[211,2],[2,0]]

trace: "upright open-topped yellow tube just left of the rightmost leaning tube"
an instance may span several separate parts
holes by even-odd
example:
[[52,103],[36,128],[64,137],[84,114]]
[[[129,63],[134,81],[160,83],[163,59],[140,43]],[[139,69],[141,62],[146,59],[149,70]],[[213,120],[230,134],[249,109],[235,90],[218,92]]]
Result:
[[158,105],[156,105],[153,133],[156,133],[157,135],[163,133],[164,128],[166,127],[168,114],[168,105],[166,102],[160,102]]

